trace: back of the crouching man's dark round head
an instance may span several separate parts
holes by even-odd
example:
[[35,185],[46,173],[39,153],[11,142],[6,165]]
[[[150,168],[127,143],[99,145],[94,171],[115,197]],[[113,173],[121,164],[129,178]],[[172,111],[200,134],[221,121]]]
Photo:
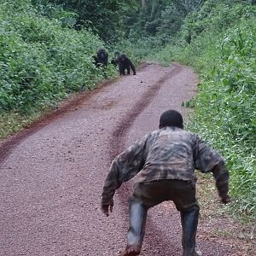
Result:
[[166,110],[160,116],[159,128],[177,126],[183,129],[183,116],[174,109]]

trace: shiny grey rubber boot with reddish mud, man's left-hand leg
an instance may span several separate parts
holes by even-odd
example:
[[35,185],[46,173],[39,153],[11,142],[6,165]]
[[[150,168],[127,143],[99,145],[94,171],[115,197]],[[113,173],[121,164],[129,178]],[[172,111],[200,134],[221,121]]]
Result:
[[148,208],[138,201],[130,203],[130,227],[127,234],[127,246],[119,256],[135,256],[141,253]]

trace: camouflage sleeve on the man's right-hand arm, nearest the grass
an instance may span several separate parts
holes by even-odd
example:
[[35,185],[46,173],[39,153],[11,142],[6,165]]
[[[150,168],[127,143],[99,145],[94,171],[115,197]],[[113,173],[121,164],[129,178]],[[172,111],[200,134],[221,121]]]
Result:
[[201,172],[212,172],[216,180],[218,195],[223,198],[229,190],[229,172],[224,164],[224,159],[199,137],[197,137],[195,144],[197,145],[195,148],[195,169]]

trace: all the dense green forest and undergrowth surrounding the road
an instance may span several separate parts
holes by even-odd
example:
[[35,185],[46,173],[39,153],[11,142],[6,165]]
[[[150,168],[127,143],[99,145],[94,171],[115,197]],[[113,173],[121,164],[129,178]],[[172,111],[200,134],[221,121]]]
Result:
[[201,74],[187,127],[224,154],[230,205],[256,219],[255,0],[0,0],[0,137],[61,99],[117,76],[92,55],[104,47],[139,64],[188,64]]

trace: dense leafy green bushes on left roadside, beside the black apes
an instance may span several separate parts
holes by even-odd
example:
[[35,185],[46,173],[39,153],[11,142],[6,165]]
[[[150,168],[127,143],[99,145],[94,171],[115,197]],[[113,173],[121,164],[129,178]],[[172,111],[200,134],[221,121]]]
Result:
[[38,15],[30,1],[0,3],[0,110],[40,109],[95,86],[106,76],[91,59],[100,47],[92,33]]

